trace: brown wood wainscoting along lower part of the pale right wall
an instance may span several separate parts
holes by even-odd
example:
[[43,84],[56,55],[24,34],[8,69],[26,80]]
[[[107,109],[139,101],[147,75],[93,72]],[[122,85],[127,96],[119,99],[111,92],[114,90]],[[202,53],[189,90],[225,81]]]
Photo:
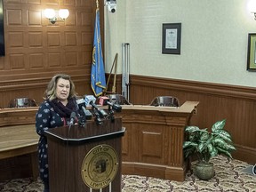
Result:
[[211,129],[216,121],[227,119],[225,128],[236,144],[233,156],[256,163],[256,88],[130,76],[130,102],[133,104],[148,105],[154,97],[161,95],[175,96],[180,104],[186,100],[200,101],[191,124],[201,128]]

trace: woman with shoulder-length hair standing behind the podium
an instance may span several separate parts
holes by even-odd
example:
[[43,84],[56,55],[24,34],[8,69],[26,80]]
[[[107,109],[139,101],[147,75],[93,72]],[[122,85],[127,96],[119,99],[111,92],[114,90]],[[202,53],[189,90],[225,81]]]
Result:
[[44,131],[68,125],[71,113],[74,111],[76,112],[76,92],[71,77],[66,74],[53,76],[44,92],[44,102],[36,113],[36,132],[40,135],[39,174],[44,182],[44,192],[49,191],[47,139]]

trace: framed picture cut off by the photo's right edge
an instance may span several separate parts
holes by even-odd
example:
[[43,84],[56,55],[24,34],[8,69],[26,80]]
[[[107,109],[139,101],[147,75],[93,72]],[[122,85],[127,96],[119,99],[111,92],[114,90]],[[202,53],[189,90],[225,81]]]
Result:
[[247,70],[256,72],[256,34],[248,34]]

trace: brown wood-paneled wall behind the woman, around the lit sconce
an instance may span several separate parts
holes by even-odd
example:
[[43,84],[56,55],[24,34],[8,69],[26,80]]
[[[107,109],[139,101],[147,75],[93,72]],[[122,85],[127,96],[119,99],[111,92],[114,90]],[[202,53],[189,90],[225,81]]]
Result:
[[[104,2],[99,2],[102,38]],[[69,17],[64,22],[52,24],[44,17],[45,8],[68,8]],[[13,98],[43,101],[46,85],[57,73],[72,76],[78,94],[92,93],[90,73],[95,10],[95,0],[4,0],[1,108],[6,108]]]

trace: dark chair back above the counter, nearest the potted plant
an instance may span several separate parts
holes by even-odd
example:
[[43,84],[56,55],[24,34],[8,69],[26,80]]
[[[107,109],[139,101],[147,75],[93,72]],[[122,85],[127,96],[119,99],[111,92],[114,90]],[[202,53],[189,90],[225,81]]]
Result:
[[150,106],[180,107],[180,101],[172,96],[158,96],[151,101]]

